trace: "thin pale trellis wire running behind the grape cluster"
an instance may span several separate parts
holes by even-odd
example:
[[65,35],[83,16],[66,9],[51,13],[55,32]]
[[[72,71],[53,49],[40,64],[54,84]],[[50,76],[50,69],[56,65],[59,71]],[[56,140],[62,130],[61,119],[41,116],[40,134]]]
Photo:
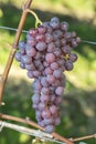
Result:
[[[10,31],[18,31],[18,29],[10,28],[10,27],[2,27],[2,25],[0,25],[0,29],[10,30]],[[23,33],[26,33],[28,31],[26,31],[26,30],[22,30],[22,32],[23,32]],[[88,40],[83,40],[83,39],[82,39],[82,42],[83,42],[83,43],[88,43],[88,44],[96,45],[96,42],[95,42],[95,41],[88,41]]]

